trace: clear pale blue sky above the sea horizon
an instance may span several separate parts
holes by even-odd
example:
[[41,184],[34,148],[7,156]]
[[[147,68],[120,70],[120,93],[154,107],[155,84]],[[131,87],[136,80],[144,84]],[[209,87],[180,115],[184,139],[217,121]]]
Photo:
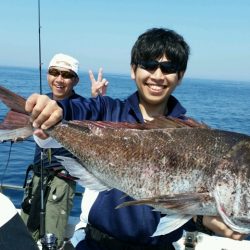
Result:
[[[40,0],[43,68],[58,52],[80,69],[129,74],[130,50],[166,27],[191,47],[186,77],[250,81],[249,0]],[[0,65],[38,67],[37,0],[1,0]]]

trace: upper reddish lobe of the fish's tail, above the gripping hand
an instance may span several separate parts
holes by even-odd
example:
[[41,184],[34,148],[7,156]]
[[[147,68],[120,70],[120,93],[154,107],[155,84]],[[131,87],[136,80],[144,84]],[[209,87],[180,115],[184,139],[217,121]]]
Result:
[[0,86],[0,100],[13,111],[28,114],[25,111],[25,99],[2,86]]

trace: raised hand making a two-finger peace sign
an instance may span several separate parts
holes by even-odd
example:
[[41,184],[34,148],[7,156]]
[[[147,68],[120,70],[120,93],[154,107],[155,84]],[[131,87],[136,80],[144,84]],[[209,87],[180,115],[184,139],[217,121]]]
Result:
[[97,80],[94,77],[92,70],[89,70],[89,78],[91,81],[91,95],[96,97],[98,95],[105,95],[107,92],[108,81],[103,77],[102,68],[99,69]]

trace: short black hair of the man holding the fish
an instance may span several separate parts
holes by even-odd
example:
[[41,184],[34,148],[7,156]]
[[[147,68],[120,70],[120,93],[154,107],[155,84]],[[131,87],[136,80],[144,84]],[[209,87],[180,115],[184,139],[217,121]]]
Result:
[[190,48],[184,38],[173,30],[152,28],[141,34],[131,51],[131,65],[166,56],[178,65],[178,72],[187,68]]

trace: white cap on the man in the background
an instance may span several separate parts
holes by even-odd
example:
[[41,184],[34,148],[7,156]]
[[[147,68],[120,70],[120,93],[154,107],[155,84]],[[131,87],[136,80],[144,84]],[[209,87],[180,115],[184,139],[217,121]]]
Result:
[[49,68],[50,67],[70,69],[78,75],[79,62],[72,56],[60,53],[53,56],[49,64]]

